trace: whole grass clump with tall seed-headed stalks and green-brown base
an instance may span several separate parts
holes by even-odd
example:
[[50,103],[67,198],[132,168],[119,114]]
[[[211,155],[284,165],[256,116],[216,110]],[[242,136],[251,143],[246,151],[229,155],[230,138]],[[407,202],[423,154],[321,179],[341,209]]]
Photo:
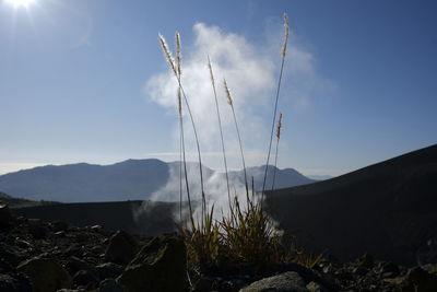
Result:
[[[246,187],[246,203],[245,206],[240,205],[238,197],[235,196],[232,199],[231,196],[231,185],[227,173],[227,162],[226,162],[226,152],[225,152],[225,143],[223,138],[223,129],[221,115],[218,109],[217,94],[215,89],[214,74],[212,70],[211,60],[208,57],[208,66],[211,75],[211,83],[213,87],[215,106],[217,113],[217,120],[221,133],[221,142],[222,142],[222,152],[223,152],[223,161],[226,173],[226,184],[227,184],[227,197],[229,205],[229,212],[226,214],[222,211],[222,219],[214,220],[214,205],[211,208],[206,208],[206,197],[203,188],[203,175],[202,175],[202,160],[201,160],[201,151],[199,147],[199,139],[197,136],[194,120],[189,107],[187,95],[182,87],[181,82],[181,45],[180,45],[180,36],[176,33],[176,60],[173,59],[172,52],[168,49],[167,44],[163,36],[160,35],[161,46],[163,48],[166,60],[168,61],[172,71],[174,72],[177,81],[178,81],[178,110],[179,110],[179,126],[180,126],[180,156],[184,162],[184,172],[185,172],[185,183],[187,190],[187,199],[189,206],[189,219],[190,226],[188,226],[181,220],[179,232],[184,236],[187,250],[189,264],[202,269],[208,269],[211,266],[222,264],[222,262],[250,262],[256,265],[269,265],[279,261],[297,261],[305,266],[312,266],[317,262],[320,257],[319,256],[306,256],[300,252],[295,245],[291,244],[288,247],[285,247],[281,241],[282,235],[276,231],[274,226],[274,222],[268,215],[268,213],[262,208],[263,195],[265,190],[265,179],[268,165],[270,161],[271,147],[273,140],[274,132],[274,124],[276,119],[276,110],[277,110],[277,102],[280,96],[281,81],[283,77],[283,69],[286,56],[286,47],[288,39],[288,17],[284,14],[284,44],[282,47],[282,62],[281,62],[281,71],[277,82],[275,103],[274,103],[274,112],[273,112],[273,122],[272,130],[270,136],[270,144],[269,151],[267,155],[267,165],[263,177],[263,186],[261,198],[257,198],[253,190],[253,178],[252,178],[252,194],[249,196],[249,187],[248,187],[248,178],[246,173],[246,162],[245,155],[243,151],[243,142],[240,137],[240,131],[235,114],[233,97],[231,94],[231,90],[224,81],[224,90],[227,96],[227,103],[231,105],[231,109],[233,113],[234,124],[237,131],[237,138],[240,148],[240,155],[244,167],[245,175],[245,187]],[[200,167],[200,182],[201,182],[201,217],[198,220],[194,220],[194,214],[191,205],[191,196],[188,184],[187,176],[187,163],[186,163],[186,150],[185,150],[185,136],[184,136],[184,115],[182,115],[182,97],[187,107],[187,112],[189,113],[191,124],[194,131],[194,138],[198,149],[199,155],[199,167]],[[276,152],[275,152],[275,162],[274,166],[277,163],[277,149],[279,141],[281,137],[281,127],[282,127],[282,113],[277,120],[276,127]],[[274,167],[275,168],[275,167]],[[181,172],[181,167],[180,167]],[[274,187],[274,178],[275,173],[273,174],[273,184]],[[180,175],[180,206],[182,200],[182,175]],[[181,210],[180,210],[181,217]]]

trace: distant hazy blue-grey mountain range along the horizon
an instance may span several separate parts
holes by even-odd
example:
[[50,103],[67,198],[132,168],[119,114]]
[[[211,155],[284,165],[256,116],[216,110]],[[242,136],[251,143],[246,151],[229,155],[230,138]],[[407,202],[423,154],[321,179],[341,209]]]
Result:
[[[127,160],[111,165],[86,163],[47,165],[0,176],[0,190],[13,197],[61,202],[145,200],[179,179],[179,162]],[[188,163],[189,180],[198,184],[199,166]],[[224,174],[203,166],[204,180],[225,179]],[[272,186],[273,166],[269,166],[268,188]],[[256,189],[262,188],[264,166],[247,168]],[[244,173],[229,172],[233,184],[244,185]],[[314,183],[293,168],[276,168],[275,188]],[[223,184],[224,185],[224,184]],[[172,200],[172,198],[157,198]],[[175,198],[176,200],[176,198]]]

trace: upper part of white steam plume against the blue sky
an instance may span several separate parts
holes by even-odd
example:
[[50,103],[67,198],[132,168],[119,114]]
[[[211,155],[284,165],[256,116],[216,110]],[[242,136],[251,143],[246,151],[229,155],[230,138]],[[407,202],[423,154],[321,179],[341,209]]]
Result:
[[[209,55],[215,74],[225,147],[231,154],[229,166],[233,168],[241,167],[241,163],[232,112],[223,91],[223,79],[226,78],[234,96],[245,153],[259,153],[248,155],[246,164],[250,166],[265,163],[265,154],[261,153],[267,152],[270,138],[270,122],[281,61],[282,30],[281,26],[275,28],[277,30],[268,35],[265,38],[268,40],[263,45],[255,45],[241,35],[224,32],[217,26],[204,23],[197,23],[193,26],[194,42],[187,46],[190,47],[189,51],[184,51],[182,38],[182,85],[198,127],[201,150],[203,153],[221,151],[217,117],[208,70]],[[285,109],[285,115],[290,110],[306,110],[311,105],[311,96],[331,84],[317,73],[314,55],[297,42],[298,38],[292,34],[280,97],[280,107],[283,106],[281,110]],[[170,70],[154,74],[145,84],[146,95],[168,108],[175,116],[177,115],[176,91],[177,82]],[[177,121],[175,118],[175,132],[177,132]],[[185,118],[185,129],[188,140],[187,151],[196,151],[188,116]],[[175,150],[178,150],[178,139],[175,139]],[[220,155],[205,155],[203,163],[216,168],[222,162]]]

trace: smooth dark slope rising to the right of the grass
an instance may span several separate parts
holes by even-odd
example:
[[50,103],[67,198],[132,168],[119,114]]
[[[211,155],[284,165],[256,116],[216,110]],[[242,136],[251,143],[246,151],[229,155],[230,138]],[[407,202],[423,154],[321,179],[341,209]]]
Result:
[[413,264],[437,238],[437,145],[267,197],[281,227],[312,249]]

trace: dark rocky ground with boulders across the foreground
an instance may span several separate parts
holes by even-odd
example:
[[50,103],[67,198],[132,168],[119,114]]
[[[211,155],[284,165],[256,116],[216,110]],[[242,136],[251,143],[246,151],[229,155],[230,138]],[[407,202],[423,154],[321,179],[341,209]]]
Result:
[[99,225],[11,217],[0,207],[0,291],[437,291],[437,265],[405,268],[364,255],[327,256],[312,269],[283,264],[187,271],[175,234],[108,232]]

